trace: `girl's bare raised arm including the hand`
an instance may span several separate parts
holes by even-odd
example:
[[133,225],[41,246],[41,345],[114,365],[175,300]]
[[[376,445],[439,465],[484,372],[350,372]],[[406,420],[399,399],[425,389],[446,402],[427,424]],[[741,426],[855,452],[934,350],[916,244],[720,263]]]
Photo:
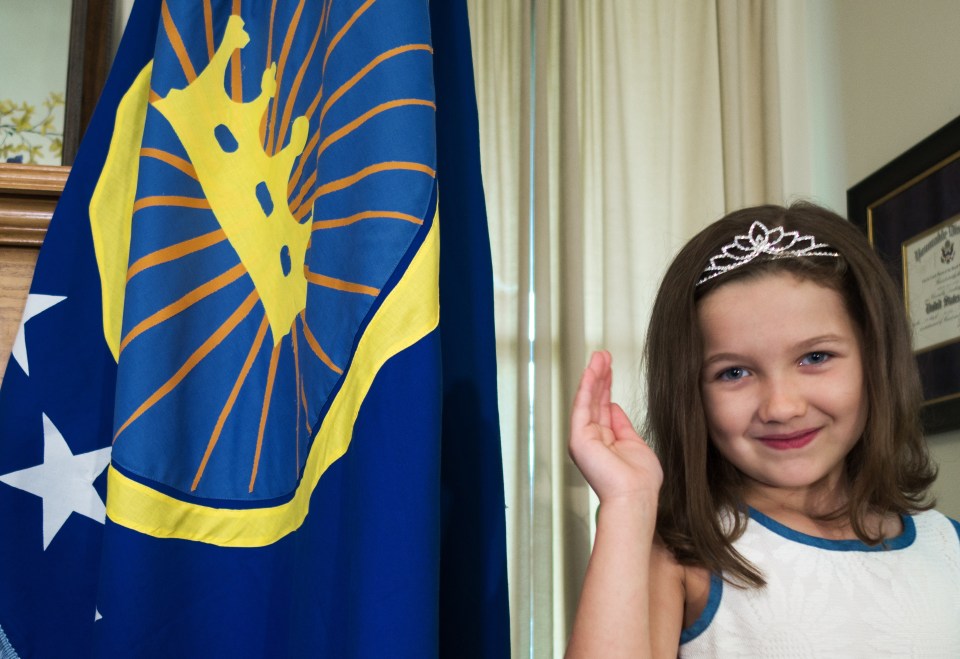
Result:
[[[665,548],[654,549],[663,471],[624,411],[610,402],[611,379],[609,353],[594,353],[571,414],[570,454],[600,498],[600,512],[567,656],[660,654],[664,640],[671,642],[659,633],[666,615],[659,611],[662,605],[671,610],[670,619],[676,619],[666,625],[676,628],[675,656],[682,624],[682,569]],[[658,609],[653,616],[656,630],[651,629],[652,597]]]

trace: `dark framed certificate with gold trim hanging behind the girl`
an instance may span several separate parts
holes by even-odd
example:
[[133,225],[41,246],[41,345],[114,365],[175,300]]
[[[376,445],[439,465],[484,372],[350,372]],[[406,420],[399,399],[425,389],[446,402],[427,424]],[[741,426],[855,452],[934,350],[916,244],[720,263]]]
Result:
[[928,433],[960,428],[960,118],[847,191],[903,286]]

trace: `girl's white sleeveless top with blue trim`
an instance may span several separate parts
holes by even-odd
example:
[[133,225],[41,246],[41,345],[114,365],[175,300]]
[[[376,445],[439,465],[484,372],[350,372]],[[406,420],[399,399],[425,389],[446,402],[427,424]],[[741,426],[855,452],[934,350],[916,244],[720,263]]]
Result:
[[680,657],[960,658],[960,525],[936,511],[904,517],[884,548],[751,510],[734,547],[767,585],[712,578]]

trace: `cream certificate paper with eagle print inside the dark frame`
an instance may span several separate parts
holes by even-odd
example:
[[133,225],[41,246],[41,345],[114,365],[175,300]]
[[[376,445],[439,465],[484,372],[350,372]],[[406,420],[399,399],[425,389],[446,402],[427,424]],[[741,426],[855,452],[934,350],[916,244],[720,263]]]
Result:
[[915,352],[960,341],[960,215],[903,243],[903,286]]

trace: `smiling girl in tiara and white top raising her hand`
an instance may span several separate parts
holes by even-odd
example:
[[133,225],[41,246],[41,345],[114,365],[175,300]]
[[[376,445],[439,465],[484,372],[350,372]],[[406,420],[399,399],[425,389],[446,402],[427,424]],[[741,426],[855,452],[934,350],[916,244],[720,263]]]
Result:
[[568,656],[960,657],[960,527],[936,475],[903,302],[810,204],[681,250],[646,344],[652,451],[595,353],[570,452],[600,498]]

